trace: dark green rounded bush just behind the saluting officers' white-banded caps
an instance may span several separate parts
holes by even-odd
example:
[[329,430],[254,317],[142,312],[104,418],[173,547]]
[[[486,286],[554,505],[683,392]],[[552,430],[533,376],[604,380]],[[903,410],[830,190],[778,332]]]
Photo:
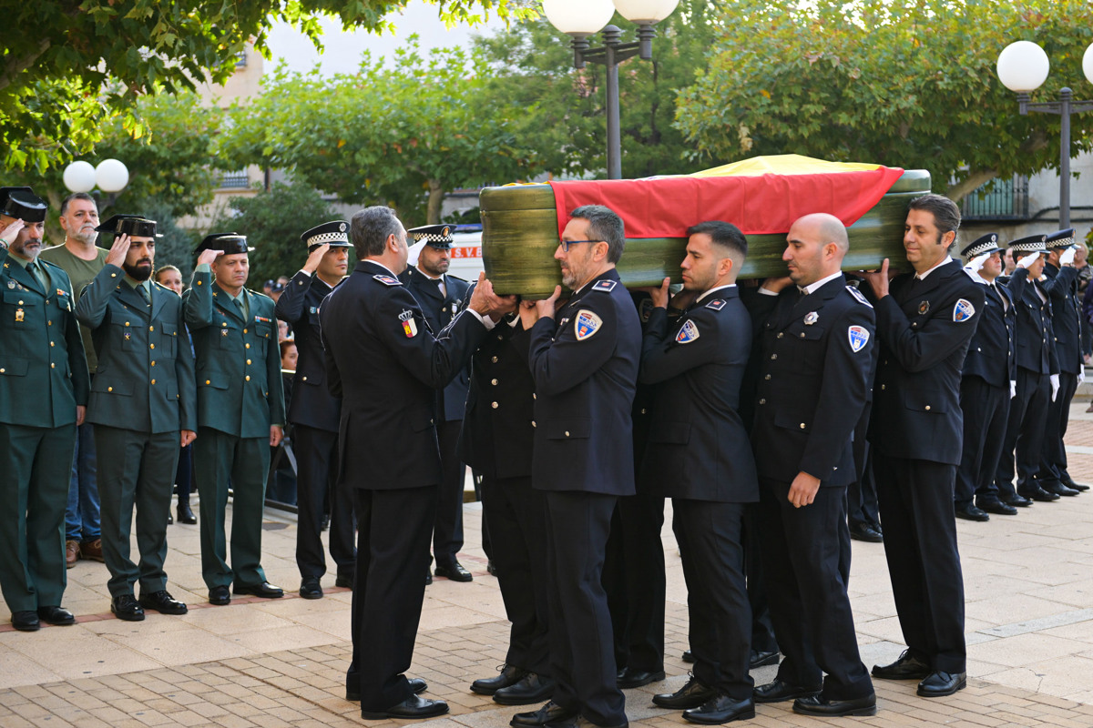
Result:
[[210,226],[209,232],[247,236],[247,242],[255,249],[250,253],[247,287],[261,290],[263,282],[292,275],[307,260],[307,248],[299,241],[305,230],[334,219],[338,213],[310,183],[274,182],[268,192],[232,198],[228,210]]

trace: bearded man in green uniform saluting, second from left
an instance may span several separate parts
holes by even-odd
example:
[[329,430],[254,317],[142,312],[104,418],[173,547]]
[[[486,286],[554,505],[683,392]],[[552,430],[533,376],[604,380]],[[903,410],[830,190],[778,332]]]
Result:
[[[179,447],[197,430],[193,355],[183,300],[151,281],[155,227],[155,220],[115,215],[96,228],[114,235],[114,244],[75,309],[98,355],[86,419],[95,426],[110,611],[128,621],[143,620],[144,609],[187,611],[167,592],[164,559]],[[129,545],[134,509],[139,564]]]

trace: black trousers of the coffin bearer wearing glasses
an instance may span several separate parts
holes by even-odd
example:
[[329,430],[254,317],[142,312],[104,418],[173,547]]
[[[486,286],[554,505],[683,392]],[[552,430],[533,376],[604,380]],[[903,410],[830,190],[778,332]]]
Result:
[[553,701],[598,726],[626,723],[615,684],[603,558],[618,497],[545,491]]

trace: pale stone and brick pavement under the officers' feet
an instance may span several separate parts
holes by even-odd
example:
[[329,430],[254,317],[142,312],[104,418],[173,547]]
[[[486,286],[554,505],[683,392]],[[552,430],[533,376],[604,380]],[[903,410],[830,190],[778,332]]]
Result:
[[[1071,409],[1070,472],[1093,482],[1093,415]],[[507,622],[496,581],[485,573],[480,510],[466,506],[467,546],[460,556],[474,582],[437,578],[426,589],[411,673],[430,683],[451,714],[428,728],[502,728],[519,708],[501,707],[467,685],[504,660]],[[670,513],[669,513],[670,522]],[[878,681],[873,718],[822,720],[794,715],[788,704],[759,706],[741,725],[762,726],[1093,726],[1093,492],[1037,503],[1018,516],[957,522],[967,596],[968,688],[952,697],[917,697],[913,682]],[[343,700],[349,664],[348,589],[326,582],[327,596],[306,600],[235,598],[211,607],[200,577],[198,527],[168,528],[168,588],[190,613],[151,612],[143,622],[109,614],[106,570],[79,562],[69,571],[64,606],[74,626],[40,632],[11,629],[0,605],[0,727],[21,726],[348,726],[363,721]],[[271,582],[298,587],[295,524],[267,511],[265,566]],[[626,691],[636,726],[668,728],[678,713],[654,708],[649,696],[686,679],[686,592],[669,524],[668,679]],[[332,570],[331,570],[332,571]],[[866,665],[903,649],[883,548],[854,542],[850,597]],[[769,680],[774,667],[757,670]]]

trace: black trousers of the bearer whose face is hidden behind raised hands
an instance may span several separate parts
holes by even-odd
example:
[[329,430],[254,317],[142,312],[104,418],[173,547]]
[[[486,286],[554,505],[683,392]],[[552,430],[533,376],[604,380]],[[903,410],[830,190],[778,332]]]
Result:
[[546,501],[531,478],[482,477],[505,616],[513,623],[505,663],[550,675],[546,588]]

